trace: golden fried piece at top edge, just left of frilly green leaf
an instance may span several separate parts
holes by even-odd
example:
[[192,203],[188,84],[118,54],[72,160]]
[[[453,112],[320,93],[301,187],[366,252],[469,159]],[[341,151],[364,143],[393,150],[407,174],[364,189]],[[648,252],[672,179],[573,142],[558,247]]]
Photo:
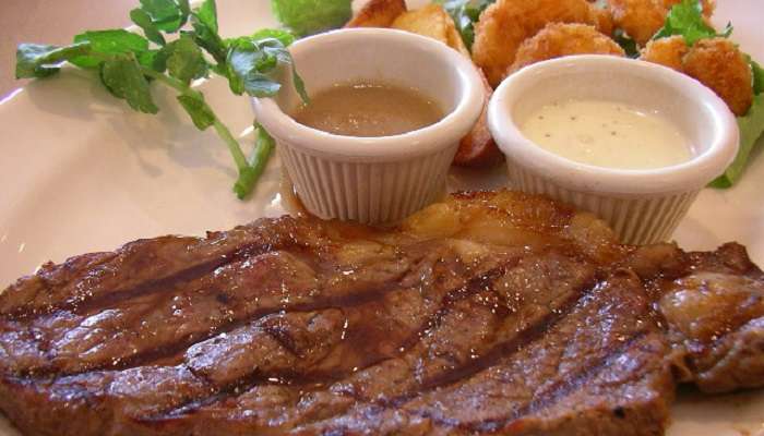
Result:
[[[671,7],[681,0],[608,0],[616,26],[625,31],[640,46],[650,40],[666,23]],[[714,0],[703,0],[706,20],[714,13]]]

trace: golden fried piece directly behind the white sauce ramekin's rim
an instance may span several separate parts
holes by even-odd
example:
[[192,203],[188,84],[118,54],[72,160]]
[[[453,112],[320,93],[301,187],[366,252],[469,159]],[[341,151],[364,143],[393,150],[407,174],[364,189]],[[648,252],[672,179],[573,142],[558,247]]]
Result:
[[523,41],[508,73],[547,59],[570,55],[625,56],[608,36],[586,24],[550,23],[534,37]]

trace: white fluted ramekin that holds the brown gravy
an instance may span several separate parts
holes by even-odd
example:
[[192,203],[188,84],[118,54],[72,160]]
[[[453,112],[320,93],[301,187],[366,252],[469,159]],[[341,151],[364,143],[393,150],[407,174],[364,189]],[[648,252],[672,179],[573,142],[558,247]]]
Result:
[[290,46],[309,94],[366,81],[416,88],[445,117],[394,136],[330,134],[289,117],[299,105],[290,78],[275,98],[253,98],[256,121],[278,155],[306,208],[320,218],[363,223],[398,221],[442,194],[458,142],[485,105],[471,62],[434,39],[384,28],[354,28],[300,39]]

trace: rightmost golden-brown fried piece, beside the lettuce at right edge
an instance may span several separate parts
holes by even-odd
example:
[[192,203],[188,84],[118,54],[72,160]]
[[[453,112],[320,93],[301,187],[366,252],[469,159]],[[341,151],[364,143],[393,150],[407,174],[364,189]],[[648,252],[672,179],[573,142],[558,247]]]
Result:
[[753,102],[751,66],[726,38],[701,39],[683,59],[684,72],[714,89],[738,117]]

